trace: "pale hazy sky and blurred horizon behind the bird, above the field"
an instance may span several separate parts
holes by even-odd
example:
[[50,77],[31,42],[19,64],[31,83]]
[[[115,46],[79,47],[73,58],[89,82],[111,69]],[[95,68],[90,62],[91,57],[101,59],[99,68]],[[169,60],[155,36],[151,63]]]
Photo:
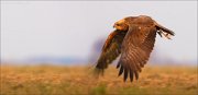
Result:
[[1,1],[1,64],[95,63],[114,22],[136,15],[176,33],[156,37],[151,63],[197,64],[196,1]]

